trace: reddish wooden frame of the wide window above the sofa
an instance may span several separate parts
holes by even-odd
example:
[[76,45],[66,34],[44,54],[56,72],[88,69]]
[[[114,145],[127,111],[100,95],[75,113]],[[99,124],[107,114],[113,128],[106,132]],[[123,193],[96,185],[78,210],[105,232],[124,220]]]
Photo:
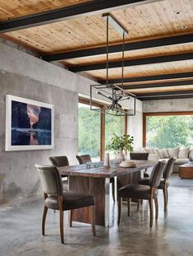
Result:
[[179,111],[179,112],[149,112],[143,113],[143,147],[146,147],[146,135],[147,135],[147,127],[146,127],[146,118],[147,116],[166,116],[166,115],[193,115],[193,111]]

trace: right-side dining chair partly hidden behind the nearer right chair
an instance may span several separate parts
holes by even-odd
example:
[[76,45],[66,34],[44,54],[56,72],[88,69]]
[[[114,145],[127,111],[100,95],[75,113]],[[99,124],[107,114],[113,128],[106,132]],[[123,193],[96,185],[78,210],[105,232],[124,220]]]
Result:
[[[163,199],[164,199],[164,212],[167,212],[168,209],[168,186],[169,186],[169,181],[168,179],[170,178],[173,170],[173,165],[175,163],[176,159],[175,158],[170,158],[167,162],[167,164],[164,166],[163,169],[163,178],[160,181],[158,189],[163,190]],[[140,179],[138,184],[144,184],[144,185],[149,185],[149,179],[144,178]]]

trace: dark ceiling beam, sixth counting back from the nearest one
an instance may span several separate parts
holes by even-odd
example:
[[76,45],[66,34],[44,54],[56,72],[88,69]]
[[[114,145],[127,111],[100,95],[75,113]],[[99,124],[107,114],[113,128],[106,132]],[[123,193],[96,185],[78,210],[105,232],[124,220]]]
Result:
[[157,92],[146,92],[146,93],[136,93],[136,98],[149,98],[153,96],[161,97],[163,95],[193,95],[193,90],[183,90],[183,91],[157,91]]

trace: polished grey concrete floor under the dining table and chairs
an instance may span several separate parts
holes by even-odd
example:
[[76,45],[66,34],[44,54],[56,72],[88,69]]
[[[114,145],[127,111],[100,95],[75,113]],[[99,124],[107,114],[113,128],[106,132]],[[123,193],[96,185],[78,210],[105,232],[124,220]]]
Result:
[[148,205],[139,212],[131,206],[131,216],[123,205],[122,222],[117,226],[117,204],[111,205],[111,227],[97,226],[93,237],[89,225],[67,225],[65,244],[60,243],[58,213],[48,212],[46,236],[41,235],[42,199],[17,199],[0,206],[0,255],[21,256],[192,256],[193,255],[193,179],[172,176],[168,214],[163,213],[163,194],[159,193],[159,221],[149,229]]

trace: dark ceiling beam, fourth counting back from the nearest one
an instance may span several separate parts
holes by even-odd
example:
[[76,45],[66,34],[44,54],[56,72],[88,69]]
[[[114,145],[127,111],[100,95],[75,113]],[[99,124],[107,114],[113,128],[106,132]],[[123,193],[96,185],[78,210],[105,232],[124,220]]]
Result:
[[[123,82],[136,82],[136,81],[156,81],[156,80],[167,80],[167,79],[178,79],[178,78],[191,78],[193,77],[193,72],[182,72],[182,73],[172,73],[163,74],[156,76],[145,76],[145,77],[126,77]],[[100,84],[106,84],[106,79],[98,80]],[[111,84],[121,83],[122,78],[108,79]]]

